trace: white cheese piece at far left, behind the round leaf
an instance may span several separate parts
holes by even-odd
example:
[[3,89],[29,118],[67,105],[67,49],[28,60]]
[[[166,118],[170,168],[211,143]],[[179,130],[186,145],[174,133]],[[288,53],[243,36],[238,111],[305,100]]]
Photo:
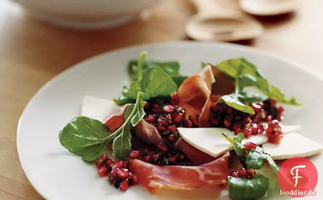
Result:
[[111,100],[85,96],[83,98],[81,116],[103,122],[107,113],[116,107],[116,104]]

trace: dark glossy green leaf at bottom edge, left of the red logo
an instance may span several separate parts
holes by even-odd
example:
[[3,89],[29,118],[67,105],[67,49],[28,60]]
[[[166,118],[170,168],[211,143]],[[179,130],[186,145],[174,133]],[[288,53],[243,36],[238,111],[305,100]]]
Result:
[[263,175],[253,175],[251,179],[228,177],[229,195],[232,200],[250,200],[265,196],[269,180]]

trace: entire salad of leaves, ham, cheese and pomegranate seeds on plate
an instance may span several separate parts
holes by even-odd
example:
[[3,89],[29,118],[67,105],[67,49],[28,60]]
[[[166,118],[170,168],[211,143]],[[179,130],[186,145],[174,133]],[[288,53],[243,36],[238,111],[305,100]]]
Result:
[[121,191],[214,186],[233,200],[267,195],[273,177],[261,173],[264,166],[277,174],[275,160],[321,152],[296,133],[299,126],[281,124],[281,104],[302,104],[252,63],[240,58],[199,68],[184,76],[178,62],[146,60],[143,52],[128,63],[132,82],[119,97],[84,97],[81,116],[59,132],[60,144],[95,162],[99,177]]

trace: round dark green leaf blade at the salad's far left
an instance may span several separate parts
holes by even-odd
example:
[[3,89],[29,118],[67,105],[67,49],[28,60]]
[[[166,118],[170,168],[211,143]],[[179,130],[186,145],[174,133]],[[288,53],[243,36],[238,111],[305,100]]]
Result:
[[74,118],[59,132],[60,144],[70,152],[91,161],[107,149],[110,130],[98,120],[87,117]]

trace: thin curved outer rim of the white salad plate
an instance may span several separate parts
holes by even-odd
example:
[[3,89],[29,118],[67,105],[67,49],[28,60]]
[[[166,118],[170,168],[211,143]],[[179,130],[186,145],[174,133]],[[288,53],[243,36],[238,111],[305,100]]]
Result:
[[30,185],[45,199],[51,199],[48,198],[48,196],[43,193],[38,186],[36,186],[35,182],[33,181],[33,179],[30,179],[30,176],[28,175],[28,173],[26,173],[26,170],[24,168],[24,164],[20,157],[20,148],[19,148],[19,135],[21,134],[21,130],[20,130],[20,125],[21,125],[21,121],[24,117],[24,115],[26,115],[26,110],[30,107],[30,105],[33,103],[33,101],[35,101],[36,98],[38,98],[39,95],[41,95],[41,93],[43,91],[45,91],[54,81],[56,81],[57,79],[59,79],[61,76],[66,75],[69,71],[73,71],[74,69],[78,68],[80,65],[82,65],[83,63],[86,62],[91,62],[92,60],[96,60],[101,56],[107,55],[107,54],[113,54],[113,53],[118,53],[118,52],[122,52],[124,50],[127,49],[133,49],[133,48],[147,48],[150,46],[168,46],[168,45],[202,45],[202,46],[219,46],[219,47],[229,47],[229,48],[234,48],[237,50],[242,50],[242,51],[248,51],[250,53],[253,54],[260,54],[263,56],[267,56],[268,58],[271,59],[275,59],[275,60],[279,60],[281,62],[287,63],[292,65],[293,67],[298,68],[299,70],[305,72],[305,73],[309,73],[310,75],[316,77],[317,79],[319,79],[320,81],[323,82],[323,75],[320,75],[318,72],[316,72],[316,70],[312,69],[312,68],[308,68],[306,67],[306,65],[304,64],[300,64],[297,63],[296,61],[292,61],[292,59],[286,59],[283,56],[267,51],[267,50],[263,50],[257,47],[253,47],[253,46],[246,46],[246,45],[242,45],[242,44],[235,44],[235,43],[225,43],[225,42],[219,42],[219,43],[206,43],[206,42],[195,42],[195,41],[170,41],[170,42],[154,42],[154,43],[145,43],[145,44],[136,44],[136,45],[131,45],[131,46],[126,46],[126,47],[121,47],[121,48],[116,48],[113,50],[108,50],[108,51],[104,51],[101,52],[99,54],[95,54],[90,56],[89,58],[86,58],[76,64],[73,64],[71,67],[68,67],[67,69],[64,69],[63,71],[61,71],[60,73],[56,74],[54,77],[52,77],[50,80],[48,80],[45,84],[42,85],[42,87],[40,87],[37,92],[33,95],[33,97],[30,98],[30,100],[28,101],[28,103],[25,105],[23,111],[21,112],[21,115],[19,117],[18,120],[18,124],[17,124],[17,131],[16,131],[16,147],[17,147],[17,154],[18,154],[18,159],[19,159],[19,163],[20,166],[23,170],[23,173],[25,174],[26,178],[28,179]]

